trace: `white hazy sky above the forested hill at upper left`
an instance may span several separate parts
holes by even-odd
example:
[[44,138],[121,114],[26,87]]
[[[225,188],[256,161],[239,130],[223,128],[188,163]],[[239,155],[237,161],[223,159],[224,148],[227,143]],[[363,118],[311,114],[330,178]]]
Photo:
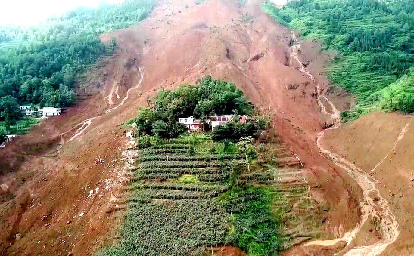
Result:
[[[102,0],[0,0],[0,24],[35,25],[79,6],[98,7]],[[106,0],[117,3],[123,0]]]

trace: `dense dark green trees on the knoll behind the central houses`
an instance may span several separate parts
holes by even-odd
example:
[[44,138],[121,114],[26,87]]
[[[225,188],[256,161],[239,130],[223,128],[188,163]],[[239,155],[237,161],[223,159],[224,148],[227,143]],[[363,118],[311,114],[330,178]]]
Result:
[[[182,85],[174,90],[160,91],[155,96],[152,108],[140,109],[132,122],[137,125],[137,133],[140,135],[170,139],[185,131],[185,127],[177,124],[178,118],[193,116],[202,119],[215,114],[245,115],[252,112],[253,107],[234,84],[213,80],[212,77],[207,76],[197,81],[195,85]],[[237,127],[238,130],[252,131],[253,129],[253,133],[257,132],[254,127],[240,125]],[[251,132],[246,131],[240,134],[252,136]]]

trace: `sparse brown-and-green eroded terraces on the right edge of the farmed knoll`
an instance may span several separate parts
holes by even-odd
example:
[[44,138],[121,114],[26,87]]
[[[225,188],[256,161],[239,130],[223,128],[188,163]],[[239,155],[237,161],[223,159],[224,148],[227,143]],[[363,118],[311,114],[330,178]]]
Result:
[[[284,237],[284,248],[289,248],[318,235],[318,228],[323,222],[326,205],[316,202],[310,196],[310,186],[306,181],[305,168],[295,153],[282,144],[274,145],[272,153],[277,156],[277,168],[269,168],[262,174],[263,182],[273,188],[273,209],[281,216],[284,223],[280,235]],[[269,153],[267,153],[269,154]],[[241,175],[245,178],[258,175],[255,172]],[[263,177],[272,177],[264,179]],[[254,179],[253,179],[254,180]]]

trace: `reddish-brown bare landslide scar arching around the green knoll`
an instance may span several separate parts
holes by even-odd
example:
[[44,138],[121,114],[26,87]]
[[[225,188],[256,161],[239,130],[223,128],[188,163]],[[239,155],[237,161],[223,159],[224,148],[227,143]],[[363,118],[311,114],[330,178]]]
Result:
[[[252,23],[241,22],[246,12],[253,15]],[[227,0],[200,5],[195,5],[194,0],[164,0],[138,26],[104,35],[102,40],[107,42],[112,36],[119,50],[91,72],[83,85],[93,96],[60,117],[44,120],[29,134],[0,149],[0,184],[5,184],[0,190],[0,228],[5,230],[0,234],[0,255],[93,254],[102,241],[113,236],[120,213],[117,210],[124,207],[120,194],[125,182],[122,152],[128,140],[120,124],[135,115],[157,90],[193,83],[207,74],[232,81],[255,105],[272,113],[275,132],[308,170],[312,194],[330,206],[323,237],[336,238],[359,221],[361,189],[346,172],[320,154],[315,143],[326,119],[315,97],[316,84],[298,70],[298,63],[291,58],[290,31],[263,14],[259,0],[249,0],[242,8],[236,1]],[[318,48],[308,42],[303,49],[303,59],[311,61],[310,67],[317,66]],[[316,69],[312,67],[311,71]],[[122,102],[129,89],[124,104],[106,113]],[[110,94],[113,105],[108,104]],[[81,130],[81,123],[91,117],[96,118],[70,141]],[[349,134],[349,126],[342,126],[328,133],[324,144],[332,143],[337,153],[364,163],[361,151],[353,153],[345,148],[346,143],[341,146]],[[368,145],[363,144],[363,139],[353,143],[361,143],[359,148]],[[405,146],[409,148],[408,141]],[[373,153],[372,163],[382,153]],[[96,157],[104,158],[105,163],[96,165]],[[365,170],[370,170],[369,166],[361,165]],[[399,183],[392,182],[395,184],[389,186],[394,190]],[[390,200],[400,210],[402,203],[409,200],[411,190],[407,186],[402,188],[407,189],[404,197],[394,198],[398,202]],[[88,197],[91,189],[94,192]],[[81,213],[84,215],[79,216]],[[396,214],[400,217],[398,211]],[[410,225],[412,219],[406,217],[405,224],[399,222],[401,227]],[[369,233],[366,230],[363,234]],[[402,233],[402,239],[409,234]],[[396,242],[392,246],[402,248],[405,244]],[[305,246],[286,252],[332,254],[329,248]]]

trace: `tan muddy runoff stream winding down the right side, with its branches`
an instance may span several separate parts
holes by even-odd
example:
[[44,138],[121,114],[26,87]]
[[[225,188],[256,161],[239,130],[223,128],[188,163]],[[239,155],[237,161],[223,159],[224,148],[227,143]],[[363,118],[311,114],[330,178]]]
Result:
[[[320,89],[320,85],[316,81],[315,77],[313,77],[312,74],[306,69],[306,67],[302,64],[301,60],[299,59],[300,51],[301,51],[301,45],[298,43],[296,39],[296,35],[291,32],[292,41],[294,42],[294,45],[291,46],[291,56],[298,62],[300,71],[303,74],[306,74],[307,77],[309,77],[312,81],[315,82],[318,90],[318,104],[321,108],[321,111],[327,115],[330,116],[332,121],[335,122],[335,124],[328,128],[329,129],[337,129],[341,125],[341,117],[340,112],[335,108],[335,105],[322,94],[322,91]],[[328,112],[327,108],[325,107],[324,103],[330,105],[330,109],[332,112]],[[396,139],[394,143],[394,147],[390,150],[395,149],[398,142],[404,137],[404,134],[407,132],[409,124],[402,129],[400,132],[400,135]],[[361,207],[361,221],[354,227],[352,230],[349,230],[344,233],[343,237],[333,239],[333,240],[316,240],[311,241],[304,246],[311,246],[311,245],[319,245],[319,246],[333,246],[337,244],[338,242],[344,241],[346,242],[346,247],[338,252],[344,253],[343,255],[346,256],[376,256],[381,254],[385,248],[395,242],[398,235],[400,234],[399,231],[399,224],[397,223],[394,214],[390,210],[388,201],[381,196],[380,191],[375,187],[375,184],[378,184],[379,182],[375,180],[371,175],[369,175],[370,172],[373,172],[378,165],[380,165],[387,157],[385,156],[372,170],[369,172],[366,172],[362,170],[359,167],[356,167],[353,163],[349,162],[347,159],[339,156],[336,153],[333,153],[332,151],[329,151],[325,148],[323,148],[321,144],[321,139],[323,139],[323,136],[325,135],[325,132],[322,131],[318,134],[318,138],[316,140],[316,144],[320,150],[321,153],[323,153],[325,156],[327,156],[329,159],[332,160],[332,162],[337,165],[338,167],[341,167],[342,169],[346,170],[348,175],[351,176],[361,187],[363,191],[363,197],[361,201],[359,202],[359,205]],[[380,233],[381,233],[381,240],[379,242],[376,242],[374,244],[370,245],[364,245],[354,248],[349,248],[349,244],[351,241],[356,237],[356,235],[360,232],[363,225],[372,218],[376,218],[380,221]],[[336,254],[335,254],[336,255]]]

